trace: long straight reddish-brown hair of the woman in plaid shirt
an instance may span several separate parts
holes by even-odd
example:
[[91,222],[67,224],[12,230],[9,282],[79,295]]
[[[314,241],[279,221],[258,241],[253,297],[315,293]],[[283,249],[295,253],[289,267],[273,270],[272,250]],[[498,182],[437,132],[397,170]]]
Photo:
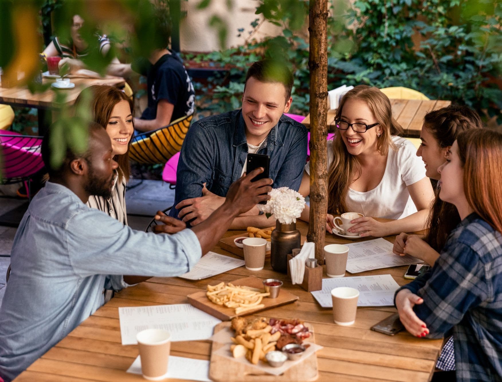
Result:
[[457,137],[464,169],[464,192],[474,211],[502,233],[502,134],[469,130]]

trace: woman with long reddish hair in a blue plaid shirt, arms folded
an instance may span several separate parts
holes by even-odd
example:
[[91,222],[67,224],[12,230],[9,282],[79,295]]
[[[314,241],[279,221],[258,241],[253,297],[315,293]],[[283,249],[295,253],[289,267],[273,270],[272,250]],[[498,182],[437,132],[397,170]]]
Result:
[[431,271],[396,293],[410,333],[453,332],[457,380],[502,381],[502,135],[458,136],[439,169],[439,197],[458,210]]

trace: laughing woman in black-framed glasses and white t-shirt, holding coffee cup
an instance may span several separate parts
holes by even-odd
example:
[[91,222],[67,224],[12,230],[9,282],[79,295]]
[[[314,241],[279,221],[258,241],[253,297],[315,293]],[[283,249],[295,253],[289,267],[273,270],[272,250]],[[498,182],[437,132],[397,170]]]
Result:
[[[359,212],[364,217],[348,229],[361,237],[382,237],[425,227],[434,198],[430,180],[415,147],[392,117],[389,98],[376,87],[358,85],[340,100],[336,111],[337,134],[328,141],[328,214],[326,229],[332,232],[333,214]],[[300,193],[310,193],[310,162]],[[301,219],[309,221],[308,206]],[[373,217],[394,219],[379,222]]]

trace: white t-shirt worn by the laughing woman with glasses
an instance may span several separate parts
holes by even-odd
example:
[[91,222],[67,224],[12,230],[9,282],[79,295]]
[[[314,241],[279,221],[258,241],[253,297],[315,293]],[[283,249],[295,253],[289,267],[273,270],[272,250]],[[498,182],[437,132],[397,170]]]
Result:
[[[389,219],[402,219],[417,212],[407,186],[425,178],[425,166],[410,141],[401,137],[392,137],[392,141],[398,149],[389,148],[385,173],[379,185],[367,192],[349,188],[345,201],[347,212]],[[329,172],[333,163],[333,141],[328,141],[327,146]],[[305,165],[305,171],[310,175],[310,162]]]

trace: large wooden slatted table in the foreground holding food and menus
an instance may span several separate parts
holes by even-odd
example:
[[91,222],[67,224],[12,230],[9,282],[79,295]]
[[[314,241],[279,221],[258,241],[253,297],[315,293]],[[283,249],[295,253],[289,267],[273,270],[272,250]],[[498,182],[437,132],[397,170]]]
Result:
[[[307,233],[307,224],[297,223],[302,234]],[[242,231],[228,231],[227,236]],[[394,237],[388,238],[390,241]],[[327,243],[348,243],[341,237],[327,234]],[[235,257],[219,248],[214,251]],[[364,272],[354,276],[391,274],[399,285],[407,267],[387,268]],[[148,282],[127,288],[99,308],[82,322],[66,338],[35,361],[17,381],[141,381],[141,375],[126,373],[138,356],[137,345],[122,346],[118,307],[147,306],[160,304],[184,304],[186,296],[205,290],[207,284],[229,282],[245,276],[284,280],[284,288],[299,296],[293,304],[270,309],[257,316],[299,318],[314,326],[316,343],[324,346],[317,352],[319,381],[427,381],[430,380],[439,356],[442,340],[413,337],[406,331],[388,336],[370,330],[370,327],[392,313],[394,307],[358,308],[352,326],[333,323],[331,309],[324,309],[312,294],[299,286],[293,286],[286,275],[272,270],[270,262],[259,272],[244,267],[201,281],[179,278],[152,278]],[[346,274],[350,276],[350,274]],[[324,276],[325,270],[324,270]],[[173,342],[171,355],[206,359],[210,357],[210,341]],[[172,379],[169,379],[172,380]],[[280,377],[278,381],[283,380]]]

